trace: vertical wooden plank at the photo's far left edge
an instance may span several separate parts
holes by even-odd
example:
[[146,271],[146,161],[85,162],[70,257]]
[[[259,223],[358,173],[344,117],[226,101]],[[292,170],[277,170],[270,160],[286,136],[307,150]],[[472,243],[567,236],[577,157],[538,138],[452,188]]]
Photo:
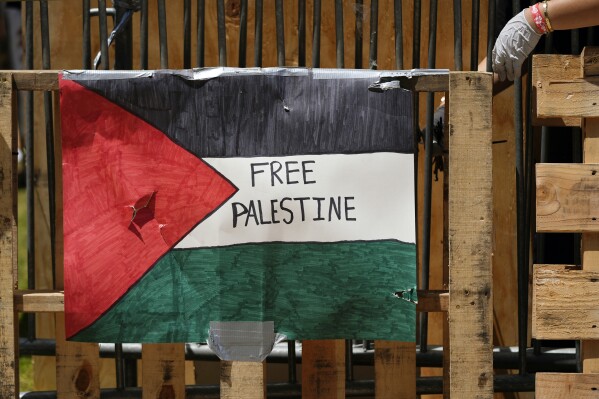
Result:
[[18,398],[16,118],[10,74],[0,74],[0,398]]

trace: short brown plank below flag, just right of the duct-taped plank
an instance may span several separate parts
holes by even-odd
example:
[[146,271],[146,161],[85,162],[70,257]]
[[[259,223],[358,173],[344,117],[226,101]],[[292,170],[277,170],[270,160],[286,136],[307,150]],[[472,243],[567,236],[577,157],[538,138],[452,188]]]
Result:
[[345,341],[302,341],[302,399],[345,398]]

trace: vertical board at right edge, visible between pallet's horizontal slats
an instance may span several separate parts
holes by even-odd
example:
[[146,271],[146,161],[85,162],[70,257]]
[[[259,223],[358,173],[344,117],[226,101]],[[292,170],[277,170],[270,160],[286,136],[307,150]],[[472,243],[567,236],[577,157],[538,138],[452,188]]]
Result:
[[[599,163],[599,119],[585,119],[582,124],[583,162]],[[582,268],[585,271],[599,271],[599,233],[585,233],[581,238]],[[582,371],[599,373],[599,343],[582,341]]]

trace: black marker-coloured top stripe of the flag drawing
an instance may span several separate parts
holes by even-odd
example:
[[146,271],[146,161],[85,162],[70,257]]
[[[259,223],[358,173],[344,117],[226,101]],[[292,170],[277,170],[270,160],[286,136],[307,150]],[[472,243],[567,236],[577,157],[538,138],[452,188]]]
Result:
[[[412,95],[375,78],[172,74],[79,80],[198,157],[413,152]],[[76,80],[76,79],[74,79]]]

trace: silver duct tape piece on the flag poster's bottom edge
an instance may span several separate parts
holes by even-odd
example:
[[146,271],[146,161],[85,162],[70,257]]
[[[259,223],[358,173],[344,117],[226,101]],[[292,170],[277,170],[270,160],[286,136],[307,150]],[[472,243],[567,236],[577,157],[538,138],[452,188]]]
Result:
[[262,362],[285,338],[274,321],[211,321],[208,346],[221,360]]

